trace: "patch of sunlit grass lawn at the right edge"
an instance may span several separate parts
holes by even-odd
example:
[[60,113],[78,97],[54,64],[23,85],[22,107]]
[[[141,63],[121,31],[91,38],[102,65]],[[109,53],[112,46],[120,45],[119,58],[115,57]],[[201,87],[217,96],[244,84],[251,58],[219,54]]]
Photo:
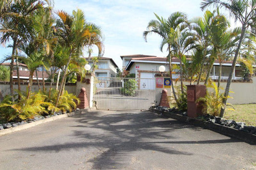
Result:
[[244,122],[245,125],[256,126],[256,104],[238,104],[233,106],[235,111],[226,111],[223,116],[225,119],[232,119],[236,122]]

